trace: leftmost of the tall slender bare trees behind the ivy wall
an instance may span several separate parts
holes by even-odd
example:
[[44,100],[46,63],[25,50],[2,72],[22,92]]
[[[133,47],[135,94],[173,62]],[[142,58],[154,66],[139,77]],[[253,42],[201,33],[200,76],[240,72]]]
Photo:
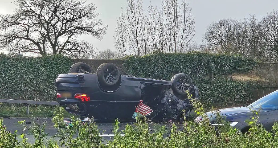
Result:
[[[148,36],[146,33],[148,32],[145,27],[147,24],[142,3],[143,0],[127,0],[126,16],[123,15],[121,8],[121,17],[117,19],[114,42],[116,49],[123,56],[129,54],[140,56],[145,53],[145,51],[141,51],[141,46],[144,46],[142,38],[145,37],[145,41],[148,41],[146,39]],[[145,31],[145,34],[143,34],[143,31]],[[145,44],[147,47],[147,42]]]

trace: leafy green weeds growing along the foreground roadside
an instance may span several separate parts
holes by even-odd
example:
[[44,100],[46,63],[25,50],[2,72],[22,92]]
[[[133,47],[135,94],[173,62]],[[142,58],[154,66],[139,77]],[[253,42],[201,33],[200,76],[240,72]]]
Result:
[[[204,113],[202,104],[192,99],[195,112],[198,115]],[[23,131],[9,131],[8,127],[3,125],[3,119],[0,119],[0,147],[2,148],[58,148],[58,147],[83,147],[83,148],[120,148],[120,147],[156,147],[156,148],[275,148],[278,147],[278,124],[275,123],[272,131],[266,131],[262,126],[254,124],[259,111],[253,111],[254,116],[250,121],[249,131],[241,133],[237,129],[229,126],[229,123],[223,120],[219,111],[215,111],[216,119],[219,124],[217,129],[210,126],[209,120],[204,118],[202,124],[196,125],[193,121],[183,122],[183,127],[175,126],[172,123],[170,127],[157,124],[155,130],[150,130],[145,119],[137,119],[134,125],[127,124],[125,129],[119,129],[119,122],[116,120],[113,132],[115,136],[111,141],[103,141],[99,136],[100,130],[94,122],[83,124],[81,120],[71,118],[72,126],[66,126],[63,122],[64,109],[57,109],[52,122],[58,130],[56,138],[59,140],[46,139],[48,135],[44,131],[46,123],[39,125],[36,120],[31,126],[27,127],[24,121],[18,123]],[[28,131],[28,133],[26,132]],[[33,134],[36,141],[29,143],[26,134]],[[121,136],[121,134],[125,134]],[[74,135],[78,135],[76,138]],[[18,140],[18,138],[22,140]],[[19,142],[20,141],[20,142]]]

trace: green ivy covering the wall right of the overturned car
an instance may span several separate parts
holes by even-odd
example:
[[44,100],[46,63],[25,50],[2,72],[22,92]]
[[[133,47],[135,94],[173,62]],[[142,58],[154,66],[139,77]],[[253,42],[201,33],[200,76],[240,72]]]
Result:
[[239,55],[217,55],[201,52],[158,53],[143,57],[126,57],[124,66],[130,75],[170,80],[177,73],[191,76],[203,103],[246,104],[254,99],[255,83],[226,78],[233,73],[247,73],[256,66],[253,59]]

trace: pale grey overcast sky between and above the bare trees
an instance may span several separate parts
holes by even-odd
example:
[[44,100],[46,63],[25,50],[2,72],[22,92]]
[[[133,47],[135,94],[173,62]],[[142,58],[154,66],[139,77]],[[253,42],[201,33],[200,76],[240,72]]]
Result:
[[[0,13],[12,13],[15,8],[13,0],[0,0]],[[81,36],[80,38],[94,44],[98,50],[110,48],[115,50],[113,34],[116,26],[116,18],[120,16],[120,7],[126,7],[126,0],[87,0],[93,2],[100,13],[99,18],[105,25],[108,25],[107,34],[103,40],[98,41],[90,36]],[[145,9],[150,5],[161,7],[162,0],[144,0]],[[219,19],[236,18],[244,19],[249,14],[255,14],[258,19],[278,9],[277,0],[187,0],[189,7],[192,8],[192,14],[196,23],[196,43],[202,42],[202,36],[207,26]]]

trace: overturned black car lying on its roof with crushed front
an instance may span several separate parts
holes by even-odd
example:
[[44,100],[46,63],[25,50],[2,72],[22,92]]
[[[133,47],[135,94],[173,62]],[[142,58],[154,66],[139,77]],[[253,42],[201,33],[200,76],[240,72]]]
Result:
[[131,121],[135,112],[145,112],[152,121],[177,121],[183,110],[192,108],[186,91],[198,98],[186,74],[178,73],[171,81],[139,78],[120,75],[113,63],[101,64],[96,74],[86,63],[75,63],[68,74],[58,75],[56,87],[57,101],[69,113],[110,121]]

